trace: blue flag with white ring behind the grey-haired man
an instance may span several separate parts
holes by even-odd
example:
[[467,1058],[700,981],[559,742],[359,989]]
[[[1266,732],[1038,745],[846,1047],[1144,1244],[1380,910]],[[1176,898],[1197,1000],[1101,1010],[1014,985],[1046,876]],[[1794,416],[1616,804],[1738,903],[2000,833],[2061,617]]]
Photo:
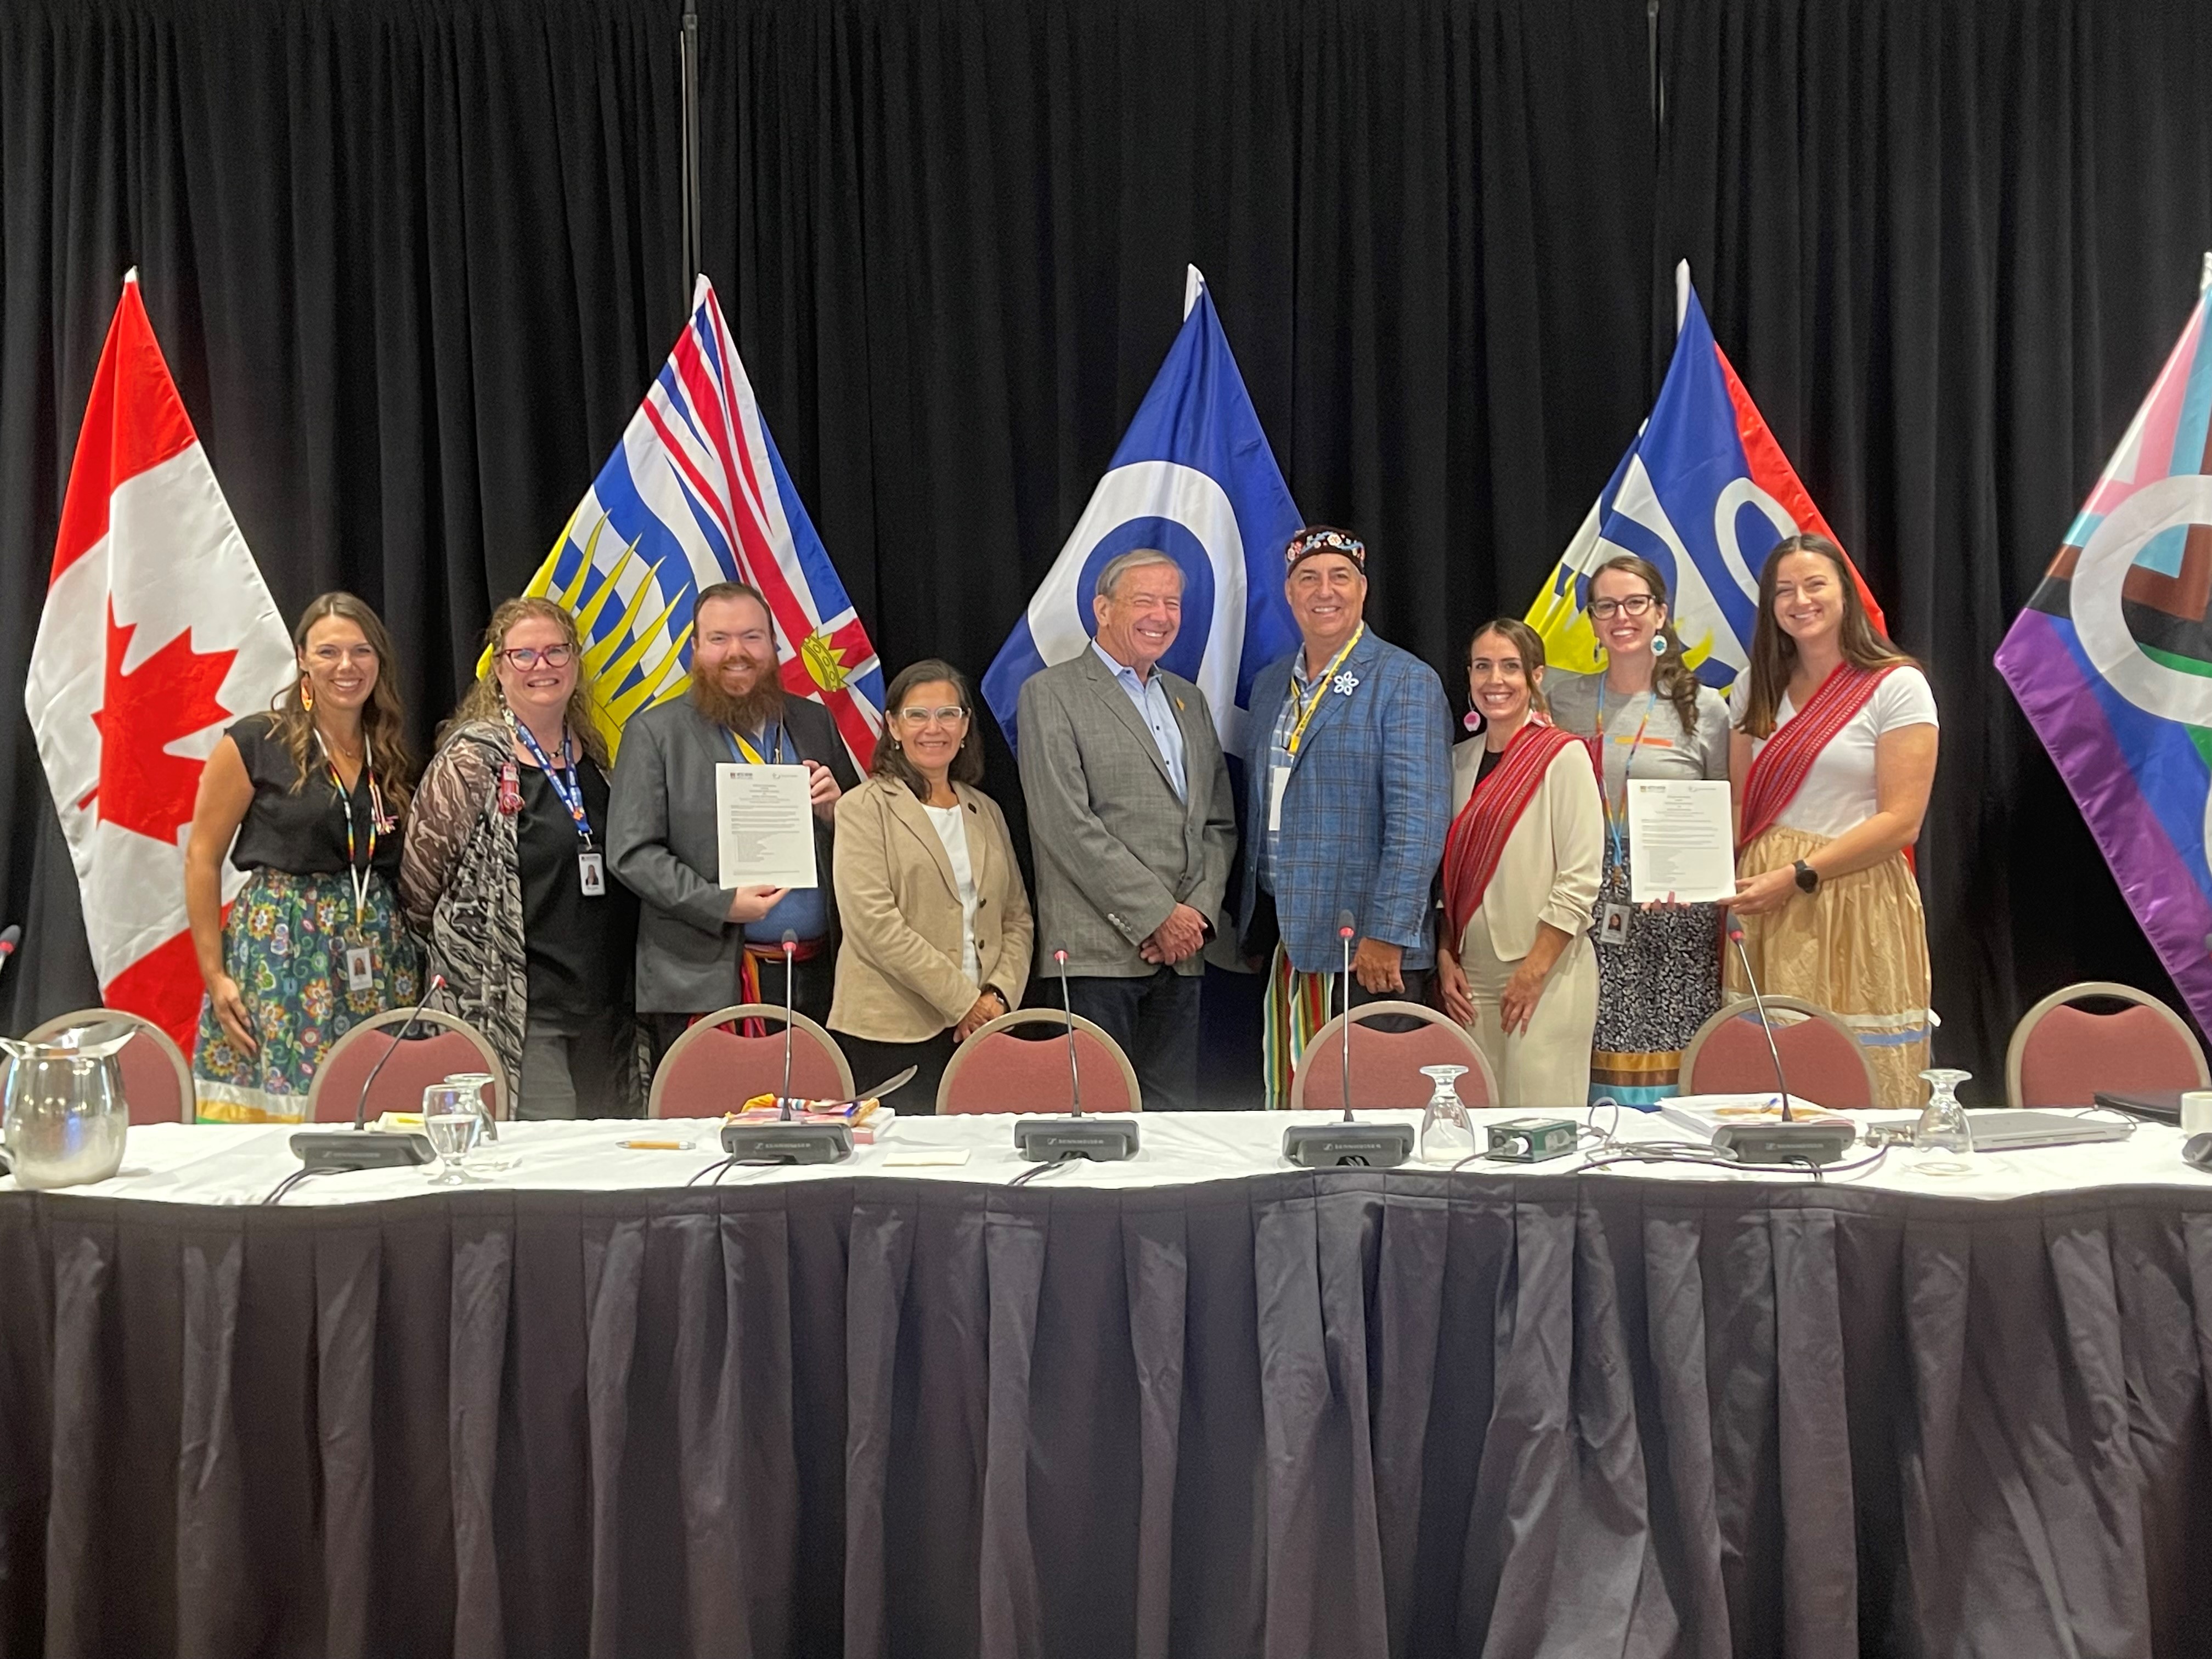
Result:
[[1099,568],[1135,546],[1157,546],[1183,571],[1183,628],[1161,661],[1199,684],[1221,748],[1243,754],[1252,677],[1298,641],[1283,599],[1283,549],[1298,524],[1212,294],[1192,265],[1183,327],[1152,389],[982,677],[1006,741],[1020,741],[1022,681],[1084,650],[1097,633],[1091,595]]

